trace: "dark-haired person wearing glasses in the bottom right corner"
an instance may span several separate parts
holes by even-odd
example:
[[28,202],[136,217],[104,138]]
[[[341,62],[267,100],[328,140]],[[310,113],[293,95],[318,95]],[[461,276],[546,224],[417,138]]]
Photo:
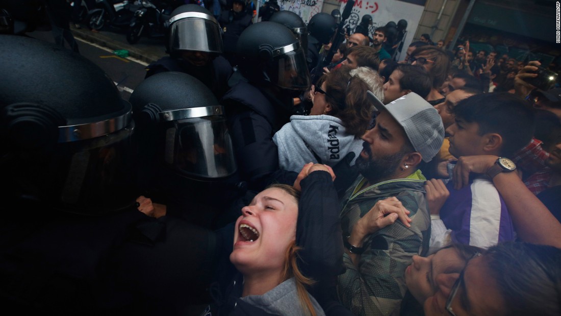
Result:
[[561,249],[554,246],[505,242],[473,255],[459,273],[433,278],[426,316],[561,315]]

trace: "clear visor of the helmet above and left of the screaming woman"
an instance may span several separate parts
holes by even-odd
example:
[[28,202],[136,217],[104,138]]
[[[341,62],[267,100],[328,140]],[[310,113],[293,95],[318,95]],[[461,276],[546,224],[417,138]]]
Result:
[[187,177],[223,178],[236,172],[226,117],[174,121],[166,131],[165,163]]

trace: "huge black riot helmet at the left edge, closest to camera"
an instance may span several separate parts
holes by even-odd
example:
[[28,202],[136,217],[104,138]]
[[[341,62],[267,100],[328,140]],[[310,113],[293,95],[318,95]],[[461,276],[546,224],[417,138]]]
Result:
[[3,200],[88,215],[134,205],[132,107],[107,74],[25,36],[2,35],[0,53]]

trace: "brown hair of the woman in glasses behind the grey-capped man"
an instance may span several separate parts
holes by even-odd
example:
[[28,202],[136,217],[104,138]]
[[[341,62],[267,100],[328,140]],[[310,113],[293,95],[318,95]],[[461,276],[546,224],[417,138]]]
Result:
[[421,46],[411,53],[408,62],[411,65],[425,67],[433,79],[433,89],[426,97],[427,102],[432,106],[444,102],[444,95],[440,94],[438,89],[440,89],[450,71],[451,63],[446,52],[431,45]]

